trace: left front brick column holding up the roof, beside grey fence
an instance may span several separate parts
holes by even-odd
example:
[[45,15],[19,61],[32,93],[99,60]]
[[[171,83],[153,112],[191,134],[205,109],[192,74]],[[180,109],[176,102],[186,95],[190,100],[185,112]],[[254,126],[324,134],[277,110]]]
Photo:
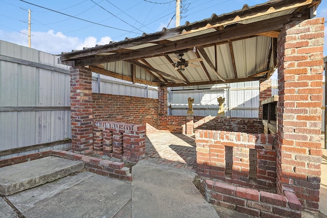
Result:
[[75,153],[93,151],[92,72],[85,67],[71,68],[72,149]]

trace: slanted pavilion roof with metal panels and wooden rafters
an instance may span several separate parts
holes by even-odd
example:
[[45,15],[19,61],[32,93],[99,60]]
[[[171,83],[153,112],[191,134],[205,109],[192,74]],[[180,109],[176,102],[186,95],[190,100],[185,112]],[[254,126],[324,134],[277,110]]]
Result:
[[[269,78],[276,67],[279,32],[291,21],[314,17],[320,2],[276,0],[253,7],[244,5],[241,10],[213,14],[177,28],[62,53],[60,60],[70,66],[86,66],[99,74],[154,86]],[[185,61],[177,60],[181,58],[179,54]],[[197,60],[192,62],[193,59]],[[181,65],[185,66],[183,71],[176,69]]]

